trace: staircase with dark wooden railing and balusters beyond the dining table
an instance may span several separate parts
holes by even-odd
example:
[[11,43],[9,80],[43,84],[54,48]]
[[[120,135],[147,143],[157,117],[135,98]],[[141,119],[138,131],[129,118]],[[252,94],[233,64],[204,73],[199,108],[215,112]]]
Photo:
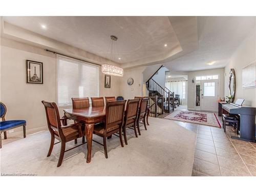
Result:
[[[163,66],[159,69],[162,67]],[[174,110],[175,105],[173,98],[175,98],[175,94],[166,87],[162,88],[152,77],[146,81],[146,89],[148,90],[148,97],[150,98],[150,116],[157,117],[163,113],[170,113]]]

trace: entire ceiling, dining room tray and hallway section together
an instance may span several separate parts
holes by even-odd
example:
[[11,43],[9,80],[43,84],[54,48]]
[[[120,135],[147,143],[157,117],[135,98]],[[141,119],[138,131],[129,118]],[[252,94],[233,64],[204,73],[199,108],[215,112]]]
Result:
[[[225,16],[42,16],[4,17],[5,22],[109,58],[110,35],[123,68],[163,64],[172,71],[225,67],[242,41],[255,30],[256,17]],[[41,25],[47,30],[41,29]],[[167,44],[167,47],[164,47]],[[212,66],[209,61],[216,61]]]

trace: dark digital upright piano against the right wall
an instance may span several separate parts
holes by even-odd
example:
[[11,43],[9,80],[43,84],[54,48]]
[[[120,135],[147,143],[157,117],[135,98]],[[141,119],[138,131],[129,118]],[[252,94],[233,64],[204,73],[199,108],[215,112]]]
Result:
[[230,114],[240,116],[240,137],[231,136],[233,139],[244,141],[255,141],[255,116],[256,108],[250,106],[240,106],[234,103],[222,104],[222,109]]

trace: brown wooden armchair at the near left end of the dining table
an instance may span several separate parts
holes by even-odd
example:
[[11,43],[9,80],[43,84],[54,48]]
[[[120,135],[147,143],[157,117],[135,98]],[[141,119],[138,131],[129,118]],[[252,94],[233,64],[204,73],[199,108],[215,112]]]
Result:
[[[59,117],[59,111],[56,103],[42,101],[42,104],[45,106],[48,129],[51,134],[51,143],[47,157],[51,155],[53,145],[60,142],[61,148],[57,164],[57,167],[59,167],[62,163],[65,152],[84,144],[84,142],[82,142],[82,144],[65,151],[67,142],[84,136],[84,125],[81,122],[67,125],[67,119]],[[59,140],[59,142],[54,143],[55,139]]]

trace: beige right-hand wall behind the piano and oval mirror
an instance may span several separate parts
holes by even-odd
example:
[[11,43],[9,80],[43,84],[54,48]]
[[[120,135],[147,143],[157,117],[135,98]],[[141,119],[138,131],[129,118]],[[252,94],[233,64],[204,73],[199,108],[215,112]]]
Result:
[[[256,29],[255,29],[256,31]],[[256,107],[256,88],[242,88],[242,69],[256,60],[256,32],[251,33],[233,53],[230,62],[225,67],[225,95],[229,95],[229,71],[236,73],[236,98],[245,99],[244,105]]]

